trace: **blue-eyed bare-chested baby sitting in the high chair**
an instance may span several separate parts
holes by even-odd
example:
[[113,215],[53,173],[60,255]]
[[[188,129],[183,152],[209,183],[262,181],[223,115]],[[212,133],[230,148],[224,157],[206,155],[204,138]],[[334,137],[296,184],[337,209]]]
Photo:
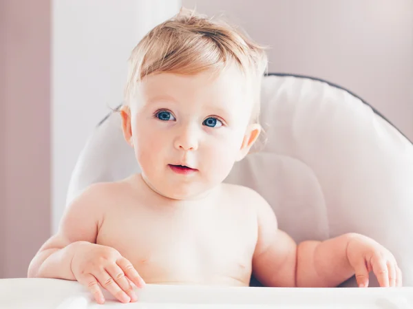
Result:
[[[255,191],[224,184],[260,136],[264,48],[189,10],[151,30],[131,53],[123,134],[142,173],[87,188],[28,277],[77,280],[137,301],[145,284],[334,287],[356,275],[401,286],[393,255],[345,234],[295,244]],[[116,151],[116,149],[114,149]]]

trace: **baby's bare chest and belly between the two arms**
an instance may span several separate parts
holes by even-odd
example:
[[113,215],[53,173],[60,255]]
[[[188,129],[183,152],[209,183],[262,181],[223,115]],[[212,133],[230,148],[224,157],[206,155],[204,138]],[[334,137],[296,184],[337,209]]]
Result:
[[105,218],[98,244],[116,248],[147,283],[246,283],[257,238],[248,213],[118,212]]

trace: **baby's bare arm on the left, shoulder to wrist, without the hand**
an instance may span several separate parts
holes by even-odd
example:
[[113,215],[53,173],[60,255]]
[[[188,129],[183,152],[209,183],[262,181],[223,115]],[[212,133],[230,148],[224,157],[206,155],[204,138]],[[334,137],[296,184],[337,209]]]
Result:
[[76,248],[83,242],[96,242],[102,211],[98,211],[99,187],[92,186],[67,206],[59,231],[36,253],[28,277],[76,280],[70,264]]

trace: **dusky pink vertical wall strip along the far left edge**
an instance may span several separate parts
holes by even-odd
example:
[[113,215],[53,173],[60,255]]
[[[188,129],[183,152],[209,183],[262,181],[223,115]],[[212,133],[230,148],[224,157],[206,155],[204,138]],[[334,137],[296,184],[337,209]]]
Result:
[[0,3],[0,277],[25,277],[50,235],[50,1]]

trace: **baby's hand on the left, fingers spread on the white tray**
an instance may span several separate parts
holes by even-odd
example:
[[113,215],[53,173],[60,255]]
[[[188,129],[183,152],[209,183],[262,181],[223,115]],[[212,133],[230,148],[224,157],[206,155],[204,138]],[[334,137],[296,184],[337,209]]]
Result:
[[78,244],[71,269],[76,280],[92,292],[98,303],[105,302],[100,286],[123,303],[138,300],[130,281],[138,288],[145,286],[131,262],[109,246],[89,242]]

